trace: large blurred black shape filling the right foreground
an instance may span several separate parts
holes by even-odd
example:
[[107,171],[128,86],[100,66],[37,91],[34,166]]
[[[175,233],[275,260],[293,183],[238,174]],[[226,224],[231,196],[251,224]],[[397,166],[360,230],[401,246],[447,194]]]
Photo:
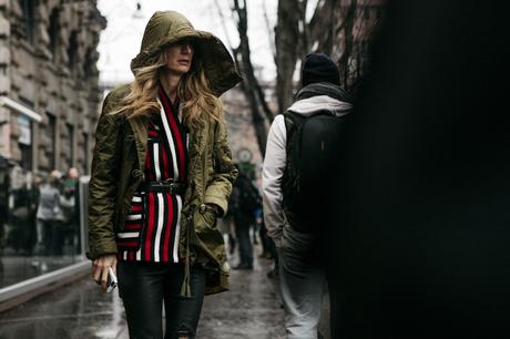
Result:
[[508,13],[388,2],[325,239],[334,338],[509,338]]

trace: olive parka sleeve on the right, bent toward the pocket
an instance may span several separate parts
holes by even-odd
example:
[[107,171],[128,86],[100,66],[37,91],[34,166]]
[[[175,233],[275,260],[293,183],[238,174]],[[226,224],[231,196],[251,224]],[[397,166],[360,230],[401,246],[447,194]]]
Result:
[[214,133],[214,174],[213,179],[205,189],[204,203],[215,204],[222,208],[222,215],[228,210],[228,197],[232,192],[232,184],[237,177],[237,168],[232,163],[232,152],[228,146],[226,122],[222,116],[216,123]]

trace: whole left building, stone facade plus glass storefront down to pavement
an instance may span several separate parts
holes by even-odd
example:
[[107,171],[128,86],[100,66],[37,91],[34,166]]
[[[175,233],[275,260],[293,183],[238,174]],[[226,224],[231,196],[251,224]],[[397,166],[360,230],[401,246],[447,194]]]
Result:
[[[105,27],[95,0],[0,0],[0,311],[90,267],[80,212]],[[71,167],[80,181],[58,174]],[[58,203],[43,219],[50,183]]]

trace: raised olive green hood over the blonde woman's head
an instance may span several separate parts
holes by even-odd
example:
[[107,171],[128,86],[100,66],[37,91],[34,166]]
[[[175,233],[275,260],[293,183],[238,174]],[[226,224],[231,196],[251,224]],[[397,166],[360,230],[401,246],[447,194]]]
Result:
[[131,71],[154,63],[167,45],[190,39],[195,47],[195,58],[201,58],[205,75],[216,95],[237,84],[242,78],[223,42],[214,34],[195,30],[192,23],[175,11],[157,11],[147,22],[140,53],[131,61]]

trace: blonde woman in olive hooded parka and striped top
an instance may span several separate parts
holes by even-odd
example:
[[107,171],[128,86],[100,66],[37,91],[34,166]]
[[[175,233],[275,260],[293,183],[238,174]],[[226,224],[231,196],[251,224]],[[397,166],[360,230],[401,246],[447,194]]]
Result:
[[[150,19],[135,80],[103,103],[92,162],[89,257],[118,270],[131,338],[193,338],[203,296],[228,288],[216,217],[237,171],[222,103],[238,76],[223,43],[182,14]],[[119,264],[118,264],[119,260]]]

